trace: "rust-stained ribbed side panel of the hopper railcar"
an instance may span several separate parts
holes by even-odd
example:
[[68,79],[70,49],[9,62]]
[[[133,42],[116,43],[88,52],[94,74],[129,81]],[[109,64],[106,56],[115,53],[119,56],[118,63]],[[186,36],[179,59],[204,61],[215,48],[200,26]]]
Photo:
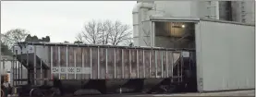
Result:
[[[173,76],[173,67],[181,54],[181,51],[165,49],[43,45],[35,50],[42,45],[27,46],[32,47],[28,55],[30,66],[37,64],[37,67],[45,65],[51,68],[45,71],[37,68],[35,79],[169,78]],[[42,53],[47,54],[46,57],[40,55]],[[33,59],[37,62],[34,63]]]

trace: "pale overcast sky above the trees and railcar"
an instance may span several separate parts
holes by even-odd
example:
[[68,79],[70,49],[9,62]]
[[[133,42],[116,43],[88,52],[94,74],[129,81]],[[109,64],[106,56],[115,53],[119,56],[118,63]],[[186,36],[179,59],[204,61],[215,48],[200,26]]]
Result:
[[120,20],[132,26],[136,1],[2,1],[1,33],[20,28],[51,42],[74,42],[91,19]]

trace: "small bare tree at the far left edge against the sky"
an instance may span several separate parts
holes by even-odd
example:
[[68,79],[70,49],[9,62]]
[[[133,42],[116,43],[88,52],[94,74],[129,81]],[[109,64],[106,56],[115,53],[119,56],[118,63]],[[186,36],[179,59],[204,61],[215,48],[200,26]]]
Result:
[[1,41],[11,48],[15,42],[24,42],[28,34],[29,31],[23,29],[8,30],[2,34]]

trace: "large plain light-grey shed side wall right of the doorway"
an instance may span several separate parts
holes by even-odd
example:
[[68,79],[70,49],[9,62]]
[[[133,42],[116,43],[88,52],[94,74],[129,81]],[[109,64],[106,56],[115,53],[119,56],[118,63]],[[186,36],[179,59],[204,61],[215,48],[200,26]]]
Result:
[[254,89],[254,27],[201,20],[196,28],[199,91]]

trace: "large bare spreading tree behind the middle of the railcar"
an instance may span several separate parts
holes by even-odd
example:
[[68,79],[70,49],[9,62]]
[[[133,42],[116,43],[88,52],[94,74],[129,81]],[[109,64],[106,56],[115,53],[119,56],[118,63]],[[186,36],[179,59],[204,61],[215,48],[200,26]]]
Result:
[[95,21],[86,23],[84,30],[76,39],[79,42],[91,44],[112,44],[121,45],[130,42],[131,31],[127,24],[111,20]]

